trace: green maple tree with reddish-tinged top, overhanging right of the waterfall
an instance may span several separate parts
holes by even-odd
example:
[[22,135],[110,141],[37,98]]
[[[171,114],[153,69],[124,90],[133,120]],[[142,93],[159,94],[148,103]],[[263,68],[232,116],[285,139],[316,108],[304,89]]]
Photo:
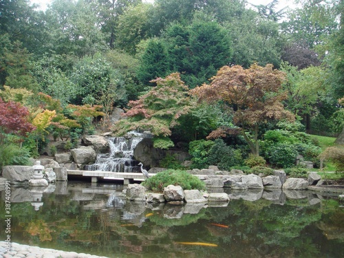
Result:
[[125,113],[127,119],[116,122],[113,130],[118,135],[133,130],[149,130],[154,136],[154,147],[168,149],[174,146],[169,138],[171,129],[179,125],[180,117],[189,112],[193,103],[180,74],[173,73],[152,82],[156,86],[147,94],[129,101],[130,109]]

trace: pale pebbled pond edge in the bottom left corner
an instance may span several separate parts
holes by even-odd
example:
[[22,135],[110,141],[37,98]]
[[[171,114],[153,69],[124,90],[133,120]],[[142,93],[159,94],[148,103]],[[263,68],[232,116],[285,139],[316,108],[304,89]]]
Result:
[[[10,252],[7,251],[10,243]],[[40,248],[38,246],[28,246],[25,244],[17,244],[14,242],[0,241],[0,257],[3,258],[108,258],[105,256],[89,255],[77,252],[65,252],[62,250],[55,250],[50,248]]]

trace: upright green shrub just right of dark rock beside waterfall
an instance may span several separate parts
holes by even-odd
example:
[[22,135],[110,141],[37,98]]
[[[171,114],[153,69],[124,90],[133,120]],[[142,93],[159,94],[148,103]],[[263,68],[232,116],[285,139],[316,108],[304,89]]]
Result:
[[191,168],[204,169],[210,165],[208,156],[214,144],[211,140],[194,140],[189,143],[189,154],[193,162]]

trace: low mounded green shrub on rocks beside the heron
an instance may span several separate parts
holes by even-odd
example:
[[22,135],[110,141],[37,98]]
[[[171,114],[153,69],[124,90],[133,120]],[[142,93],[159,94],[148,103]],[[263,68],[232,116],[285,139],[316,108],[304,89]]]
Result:
[[148,178],[142,185],[148,190],[162,193],[164,187],[173,184],[175,186],[181,186],[183,190],[205,190],[205,184],[197,176],[191,175],[190,173],[182,170],[167,169],[159,172]]

